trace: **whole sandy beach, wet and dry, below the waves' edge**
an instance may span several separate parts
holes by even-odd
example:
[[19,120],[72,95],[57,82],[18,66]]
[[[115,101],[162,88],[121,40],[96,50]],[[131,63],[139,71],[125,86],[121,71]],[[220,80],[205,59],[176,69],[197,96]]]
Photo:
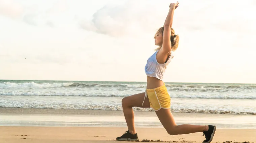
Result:
[[[0,143],[114,143],[122,142],[116,141],[116,137],[127,130],[122,111],[0,108],[0,113]],[[215,123],[213,142],[256,142],[253,115],[173,113],[173,116],[178,125],[203,124],[203,120]],[[169,135],[154,112],[135,111],[135,127],[140,141],[204,140],[202,133]]]

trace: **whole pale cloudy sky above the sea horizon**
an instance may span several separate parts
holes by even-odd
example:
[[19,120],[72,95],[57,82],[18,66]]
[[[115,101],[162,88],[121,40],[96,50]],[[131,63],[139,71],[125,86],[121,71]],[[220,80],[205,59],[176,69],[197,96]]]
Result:
[[[171,0],[0,0],[0,79],[147,81]],[[180,0],[165,82],[256,83],[256,2]]]

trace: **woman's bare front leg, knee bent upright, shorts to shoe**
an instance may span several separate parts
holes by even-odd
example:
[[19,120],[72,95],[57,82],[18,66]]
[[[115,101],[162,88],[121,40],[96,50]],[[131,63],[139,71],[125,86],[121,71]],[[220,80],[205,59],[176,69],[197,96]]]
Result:
[[134,126],[134,112],[132,107],[150,108],[149,98],[145,98],[143,106],[141,106],[145,97],[145,92],[124,97],[122,99],[123,113],[126,120],[128,130],[131,134],[136,134]]

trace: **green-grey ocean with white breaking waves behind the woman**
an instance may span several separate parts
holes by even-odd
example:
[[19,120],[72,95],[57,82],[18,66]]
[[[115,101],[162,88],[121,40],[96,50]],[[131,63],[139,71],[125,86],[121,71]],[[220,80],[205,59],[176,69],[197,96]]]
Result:
[[[256,84],[165,84],[172,112],[256,115]],[[0,107],[116,111],[145,89],[146,82],[0,80]]]

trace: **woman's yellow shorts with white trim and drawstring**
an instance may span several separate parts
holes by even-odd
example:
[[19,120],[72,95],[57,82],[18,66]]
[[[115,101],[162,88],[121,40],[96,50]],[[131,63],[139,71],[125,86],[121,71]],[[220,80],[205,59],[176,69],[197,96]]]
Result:
[[158,111],[161,108],[163,109],[171,108],[171,97],[167,92],[167,88],[165,87],[165,84],[154,89],[146,89],[144,100],[145,98],[147,98],[147,96],[149,98],[150,107],[155,111]]

